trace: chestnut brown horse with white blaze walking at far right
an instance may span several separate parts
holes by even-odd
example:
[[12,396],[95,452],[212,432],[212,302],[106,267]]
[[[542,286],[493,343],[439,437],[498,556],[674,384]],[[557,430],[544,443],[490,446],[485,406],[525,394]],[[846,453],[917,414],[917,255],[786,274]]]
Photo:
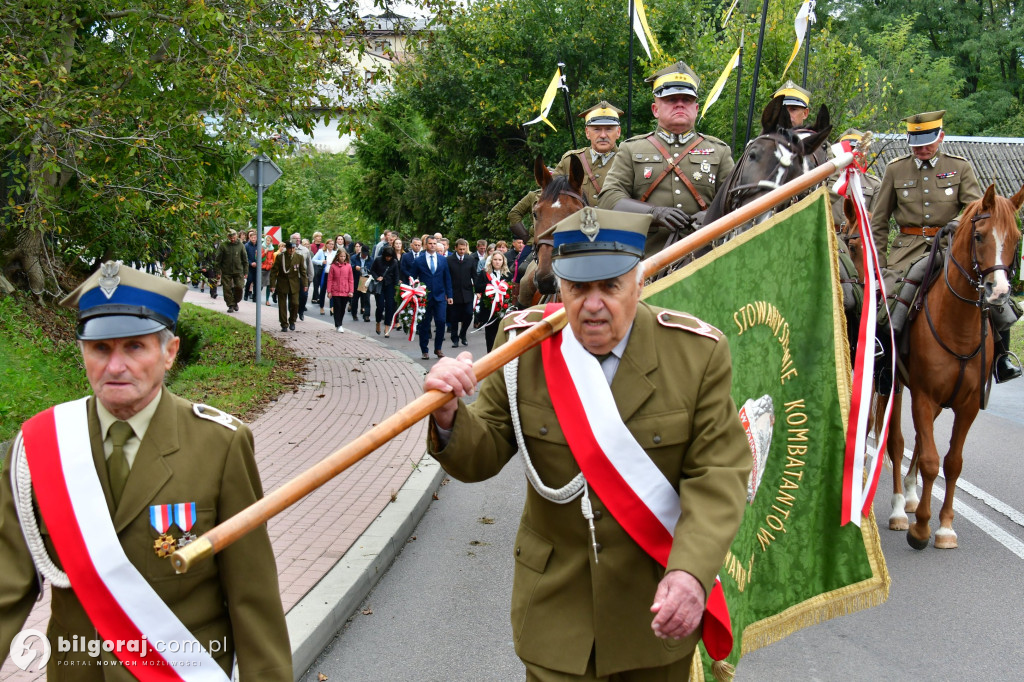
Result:
[[[924,295],[923,314],[907,323],[909,351],[900,358],[899,380],[910,390],[916,437],[904,480],[900,475],[901,395],[897,393],[893,395],[887,443],[893,466],[889,527],[905,529],[907,543],[914,549],[927,547],[931,537],[932,485],[939,473],[933,427],[943,408],[952,408],[954,416],[949,451],[942,461],[946,494],[939,511],[935,546],[956,547],[953,492],[964,466],[964,441],[992,376],[992,330],[987,308],[1005,303],[1010,296],[1007,272],[1021,237],[1016,213],[1022,204],[1024,187],[1012,199],[1005,199],[995,194],[995,185],[990,185],[982,199],[967,207],[946,253],[942,276]],[[920,499],[918,470],[923,481]],[[915,513],[913,524],[908,523],[906,512]]]

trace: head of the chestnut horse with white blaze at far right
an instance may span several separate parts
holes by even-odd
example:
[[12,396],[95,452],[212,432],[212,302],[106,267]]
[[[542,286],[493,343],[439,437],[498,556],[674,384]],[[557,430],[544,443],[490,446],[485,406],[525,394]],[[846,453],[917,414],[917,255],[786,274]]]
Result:
[[[984,286],[985,301],[1002,305],[1010,297],[1010,278],[1017,243],[1017,212],[1024,205],[1024,186],[1011,199],[995,194],[988,185],[985,196],[964,211],[953,240],[953,257],[962,272],[962,260],[970,258],[967,276],[974,287]],[[970,225],[970,229],[965,229]],[[968,255],[970,254],[970,255]]]

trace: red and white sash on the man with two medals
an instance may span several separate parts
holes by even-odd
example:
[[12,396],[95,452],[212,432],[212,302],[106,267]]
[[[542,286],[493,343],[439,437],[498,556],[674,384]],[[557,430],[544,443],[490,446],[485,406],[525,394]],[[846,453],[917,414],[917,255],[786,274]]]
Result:
[[86,398],[39,413],[22,436],[57,556],[99,636],[115,643],[112,653],[139,680],[226,682],[121,547],[92,459]]

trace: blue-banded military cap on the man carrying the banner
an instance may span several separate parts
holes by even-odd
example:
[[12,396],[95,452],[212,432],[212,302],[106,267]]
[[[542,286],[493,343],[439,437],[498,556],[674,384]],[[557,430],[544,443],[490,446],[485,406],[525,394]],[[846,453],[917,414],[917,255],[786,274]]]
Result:
[[651,216],[587,206],[555,225],[551,267],[569,282],[601,282],[629,272],[643,257]]

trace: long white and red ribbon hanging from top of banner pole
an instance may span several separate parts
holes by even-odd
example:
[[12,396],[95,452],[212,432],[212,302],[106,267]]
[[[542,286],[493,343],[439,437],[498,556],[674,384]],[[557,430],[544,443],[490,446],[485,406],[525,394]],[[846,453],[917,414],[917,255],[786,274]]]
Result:
[[[834,145],[836,156],[852,152],[849,141]],[[870,219],[867,216],[864,195],[861,188],[861,176],[864,169],[855,160],[846,167],[834,189],[841,197],[849,197],[853,201],[857,213],[857,224],[861,236],[860,271],[864,276],[864,298],[860,310],[860,329],[857,331],[857,351],[853,358],[853,395],[850,403],[850,423],[846,432],[846,453],[843,462],[843,508],[840,525],[853,522],[860,525],[861,518],[870,512],[871,500],[878,487],[879,475],[882,473],[883,453],[878,444],[869,451],[867,443],[867,421],[871,410],[871,395],[874,392],[874,334],[877,329],[878,301],[886,300],[885,282],[882,279],[882,268],[879,265],[879,255],[874,249],[871,237]],[[889,327],[890,348],[894,348],[892,327]],[[892,358],[892,375],[896,374],[896,353],[890,353]],[[878,443],[884,444],[889,432],[889,417],[892,413],[893,387],[889,387],[889,398],[886,412],[879,430]],[[870,454],[866,480],[864,478],[864,462]]]

